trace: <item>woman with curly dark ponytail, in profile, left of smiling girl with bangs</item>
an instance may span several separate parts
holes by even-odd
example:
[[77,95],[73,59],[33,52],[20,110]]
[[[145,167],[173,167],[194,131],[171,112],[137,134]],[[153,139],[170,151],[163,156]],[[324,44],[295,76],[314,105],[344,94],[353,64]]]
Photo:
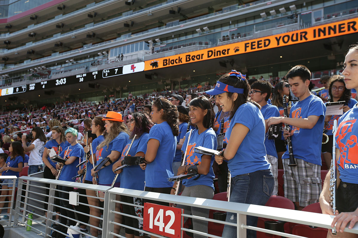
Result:
[[[150,112],[152,121],[156,123],[149,132],[145,163],[145,191],[170,194],[174,182],[173,161],[176,149],[176,136],[179,135],[178,109],[165,98],[158,98],[153,102]],[[152,202],[164,206],[169,203]]]

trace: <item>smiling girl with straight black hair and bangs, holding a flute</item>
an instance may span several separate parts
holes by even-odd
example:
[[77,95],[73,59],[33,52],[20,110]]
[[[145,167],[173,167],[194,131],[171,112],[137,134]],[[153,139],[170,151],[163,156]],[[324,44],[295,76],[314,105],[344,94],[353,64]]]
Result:
[[[190,132],[185,135],[182,151],[187,149],[187,157],[185,158],[185,165],[179,167],[177,175],[186,173],[192,169],[199,175],[183,180],[185,188],[182,196],[212,199],[214,196],[213,179],[215,177],[212,167],[214,157],[199,154],[195,152],[194,149],[194,147],[198,146],[203,146],[212,150],[216,150],[217,148],[216,133],[212,128],[215,120],[212,103],[204,96],[194,98],[189,103],[189,116],[191,123],[195,124],[198,129],[192,131],[189,144],[188,137]],[[174,183],[171,194],[174,194],[175,188],[176,182]],[[177,207],[183,208],[185,214],[191,213],[193,216],[209,218],[208,209],[183,205],[178,205]],[[208,232],[207,221],[193,219],[193,227],[195,231],[204,233]],[[204,236],[194,234],[194,238],[201,237]]]

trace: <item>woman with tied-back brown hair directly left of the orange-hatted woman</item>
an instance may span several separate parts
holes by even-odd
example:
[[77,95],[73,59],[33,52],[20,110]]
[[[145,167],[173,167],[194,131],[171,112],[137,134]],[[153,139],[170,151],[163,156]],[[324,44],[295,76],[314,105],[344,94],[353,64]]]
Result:
[[[89,144],[88,144],[88,146],[84,147],[84,152],[87,153],[87,159],[89,161],[86,164],[86,178],[84,179],[84,183],[88,183],[88,184],[93,184],[93,182],[92,182],[93,177],[91,175],[91,169],[93,168],[91,153],[93,153],[93,159],[95,160],[95,163],[96,163],[96,161],[97,161],[97,159],[96,159],[97,146],[105,140],[105,137],[103,136],[103,132],[106,130],[106,128],[105,128],[106,123],[105,123],[105,121],[103,121],[103,117],[95,117],[92,120],[91,124],[92,124],[91,125],[92,133],[95,134],[97,136],[97,138],[95,138],[92,141],[93,151],[90,151]],[[93,190],[86,189],[86,194],[87,194],[87,196],[96,197],[96,191],[93,191]],[[87,197],[88,204],[90,205],[89,206],[89,214],[91,216],[101,217],[100,209],[96,208],[96,207],[100,207],[100,200],[97,198],[92,198],[92,197]],[[92,226],[98,227],[100,224],[100,220],[96,219],[94,217],[89,217],[89,224],[91,224]],[[98,237],[98,229],[91,227],[91,234],[94,237]]]

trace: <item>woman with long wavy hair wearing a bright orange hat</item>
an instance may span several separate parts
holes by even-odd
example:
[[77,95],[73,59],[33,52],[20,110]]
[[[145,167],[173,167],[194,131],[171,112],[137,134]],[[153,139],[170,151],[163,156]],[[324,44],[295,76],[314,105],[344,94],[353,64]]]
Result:
[[[112,186],[113,179],[116,174],[112,171],[111,164],[116,162],[118,158],[121,156],[124,147],[127,145],[127,141],[129,140],[129,131],[127,126],[122,120],[122,114],[108,111],[106,118],[103,118],[102,121],[105,121],[106,132],[108,133],[96,149],[96,164],[102,162],[103,159],[109,158],[102,168],[98,168],[99,170],[95,171],[94,168],[91,170],[92,177],[97,176],[97,182],[92,180],[93,184],[103,185],[103,186]],[[92,145],[93,148],[93,145]],[[94,149],[93,149],[94,150]],[[120,178],[117,179],[114,187],[120,187]],[[103,193],[100,193],[104,195]],[[116,196],[116,200],[120,201],[120,196]],[[121,206],[119,203],[116,203],[116,211],[120,211]],[[120,214],[115,214],[115,222],[122,223],[122,216]],[[114,226],[114,233],[119,234],[121,227]]]

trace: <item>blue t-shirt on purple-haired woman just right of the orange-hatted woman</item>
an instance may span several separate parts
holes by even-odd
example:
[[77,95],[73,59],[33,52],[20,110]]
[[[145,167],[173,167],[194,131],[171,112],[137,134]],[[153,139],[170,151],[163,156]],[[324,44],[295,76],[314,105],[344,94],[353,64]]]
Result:
[[[135,156],[138,152],[147,152],[147,140],[149,134],[144,132],[140,137],[137,137],[128,153],[128,156]],[[132,140],[127,142],[126,147],[122,152],[121,159],[124,158],[128,151]],[[141,169],[139,165],[130,165],[123,169],[121,173],[121,188],[129,188],[135,190],[144,190],[145,170]]]

